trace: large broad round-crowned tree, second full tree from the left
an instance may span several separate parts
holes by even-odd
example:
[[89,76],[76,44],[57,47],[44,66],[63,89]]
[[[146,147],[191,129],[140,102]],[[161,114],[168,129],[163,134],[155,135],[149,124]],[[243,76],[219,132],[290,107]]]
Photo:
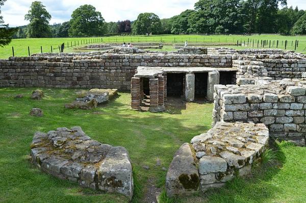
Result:
[[70,37],[92,37],[106,33],[105,20],[101,13],[91,5],[75,9],[70,20]]

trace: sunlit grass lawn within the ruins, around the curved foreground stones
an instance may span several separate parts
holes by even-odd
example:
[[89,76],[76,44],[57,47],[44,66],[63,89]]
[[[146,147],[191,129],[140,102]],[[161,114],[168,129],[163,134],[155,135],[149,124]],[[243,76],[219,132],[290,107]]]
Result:
[[[135,179],[133,202],[143,202],[151,184],[164,194],[166,171],[175,151],[211,126],[212,104],[187,104],[152,114],[130,109],[130,93],[120,92],[108,105],[95,110],[66,110],[74,100],[71,89],[43,89],[45,97],[31,100],[34,88],[0,88],[0,202],[126,202],[120,195],[100,194],[41,172],[30,163],[35,131],[79,125],[91,138],[125,147]],[[24,94],[21,99],[13,98]],[[44,116],[31,117],[33,107]],[[306,147],[282,143],[280,164],[254,169],[248,179],[235,179],[224,188],[161,202],[306,202]],[[157,166],[160,159],[161,166]],[[148,166],[149,169],[144,169]]]

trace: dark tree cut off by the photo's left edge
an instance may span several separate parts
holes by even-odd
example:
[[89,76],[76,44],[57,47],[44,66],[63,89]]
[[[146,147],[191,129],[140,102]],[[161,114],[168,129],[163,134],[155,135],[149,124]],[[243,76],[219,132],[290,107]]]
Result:
[[[4,5],[6,0],[0,0],[0,15],[1,7]],[[4,24],[3,17],[0,16],[0,47],[11,43],[13,35],[17,32],[15,28],[9,28],[8,24]]]

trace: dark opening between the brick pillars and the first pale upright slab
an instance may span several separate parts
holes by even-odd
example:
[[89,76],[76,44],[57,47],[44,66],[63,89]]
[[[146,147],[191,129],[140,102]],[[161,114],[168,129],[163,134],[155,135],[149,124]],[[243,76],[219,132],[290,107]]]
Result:
[[167,73],[167,96],[184,95],[185,73]]

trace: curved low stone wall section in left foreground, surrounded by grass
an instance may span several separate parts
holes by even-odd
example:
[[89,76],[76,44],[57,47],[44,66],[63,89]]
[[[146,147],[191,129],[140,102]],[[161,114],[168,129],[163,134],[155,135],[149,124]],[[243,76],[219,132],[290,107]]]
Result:
[[32,162],[59,179],[104,192],[133,196],[133,175],[124,147],[101,144],[79,126],[36,132],[31,144]]

